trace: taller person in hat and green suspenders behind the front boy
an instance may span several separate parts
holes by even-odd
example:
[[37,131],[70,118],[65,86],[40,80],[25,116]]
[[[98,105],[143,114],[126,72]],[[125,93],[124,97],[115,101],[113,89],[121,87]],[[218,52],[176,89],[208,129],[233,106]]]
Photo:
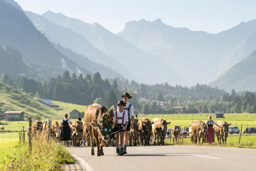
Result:
[[128,125],[127,128],[125,130],[125,135],[124,135],[124,151],[125,153],[127,153],[126,148],[127,148],[127,143],[128,143],[128,139],[129,139],[129,132],[130,132],[130,128],[133,128],[133,121],[134,121],[134,109],[133,109],[133,105],[128,102],[128,99],[131,99],[132,96],[125,92],[122,95],[123,101],[126,104],[126,106],[123,108],[127,113],[128,113]]

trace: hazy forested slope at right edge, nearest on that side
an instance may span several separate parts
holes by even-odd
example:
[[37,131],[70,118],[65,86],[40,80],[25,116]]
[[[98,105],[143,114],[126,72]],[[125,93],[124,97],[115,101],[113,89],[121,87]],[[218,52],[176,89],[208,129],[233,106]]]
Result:
[[231,92],[256,91],[256,51],[247,58],[231,67],[225,74],[210,83],[210,86],[223,88]]

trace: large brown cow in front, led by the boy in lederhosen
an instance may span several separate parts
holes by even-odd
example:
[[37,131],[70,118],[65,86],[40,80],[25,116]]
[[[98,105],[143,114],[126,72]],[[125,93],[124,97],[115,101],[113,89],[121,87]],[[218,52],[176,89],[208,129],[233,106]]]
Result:
[[107,108],[105,106],[99,105],[97,103],[86,107],[85,114],[84,114],[84,123],[85,123],[85,126],[88,128],[89,134],[90,134],[91,146],[92,146],[91,155],[94,155],[94,148],[93,148],[94,140],[96,141],[96,144],[97,144],[97,156],[104,155],[103,145],[99,145],[100,142],[99,142],[98,136],[100,136],[103,141],[110,140],[109,137],[104,137],[102,135],[104,129],[102,130],[99,129],[99,125],[97,124],[97,122],[102,118],[103,113],[106,111],[107,111]]

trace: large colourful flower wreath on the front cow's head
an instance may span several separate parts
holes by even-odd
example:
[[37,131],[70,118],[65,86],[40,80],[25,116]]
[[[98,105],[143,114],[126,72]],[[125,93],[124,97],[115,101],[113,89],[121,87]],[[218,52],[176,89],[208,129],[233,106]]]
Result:
[[[114,111],[114,106],[110,107],[107,112],[102,115],[102,118],[98,121],[99,129],[101,130],[103,137],[111,137],[111,129],[114,125]],[[101,143],[104,143],[104,141],[102,141]]]

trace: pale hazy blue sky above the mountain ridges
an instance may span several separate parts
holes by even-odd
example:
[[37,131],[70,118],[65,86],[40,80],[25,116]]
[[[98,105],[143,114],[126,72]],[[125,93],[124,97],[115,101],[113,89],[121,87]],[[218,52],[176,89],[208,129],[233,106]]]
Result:
[[23,10],[60,12],[117,33],[125,23],[145,19],[173,27],[217,33],[256,19],[255,0],[16,0]]

